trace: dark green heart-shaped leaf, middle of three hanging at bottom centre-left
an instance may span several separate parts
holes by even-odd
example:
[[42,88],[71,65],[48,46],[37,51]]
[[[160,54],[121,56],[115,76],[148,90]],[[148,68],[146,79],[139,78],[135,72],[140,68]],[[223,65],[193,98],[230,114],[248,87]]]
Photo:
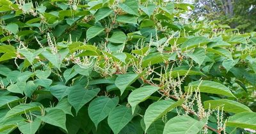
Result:
[[97,129],[100,121],[108,117],[111,110],[113,110],[118,104],[118,97],[108,98],[107,96],[100,96],[95,98],[88,107],[88,113],[90,119],[92,119]]

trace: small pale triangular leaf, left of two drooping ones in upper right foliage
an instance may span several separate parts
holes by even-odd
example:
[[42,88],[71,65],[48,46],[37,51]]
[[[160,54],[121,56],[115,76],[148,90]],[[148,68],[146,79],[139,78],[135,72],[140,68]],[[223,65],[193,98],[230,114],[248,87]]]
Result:
[[200,48],[195,48],[195,51],[193,53],[189,53],[188,57],[193,59],[196,63],[201,66],[201,64],[204,62],[205,59],[205,49],[200,47]]

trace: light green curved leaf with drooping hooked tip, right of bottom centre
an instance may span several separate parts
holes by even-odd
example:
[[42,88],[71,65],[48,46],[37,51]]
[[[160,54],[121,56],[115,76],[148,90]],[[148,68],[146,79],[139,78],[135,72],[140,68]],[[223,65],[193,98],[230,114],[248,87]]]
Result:
[[155,93],[159,87],[156,86],[144,86],[132,91],[128,96],[128,102],[132,107],[132,114],[134,114],[136,106],[142,101],[147,100],[151,94]]

